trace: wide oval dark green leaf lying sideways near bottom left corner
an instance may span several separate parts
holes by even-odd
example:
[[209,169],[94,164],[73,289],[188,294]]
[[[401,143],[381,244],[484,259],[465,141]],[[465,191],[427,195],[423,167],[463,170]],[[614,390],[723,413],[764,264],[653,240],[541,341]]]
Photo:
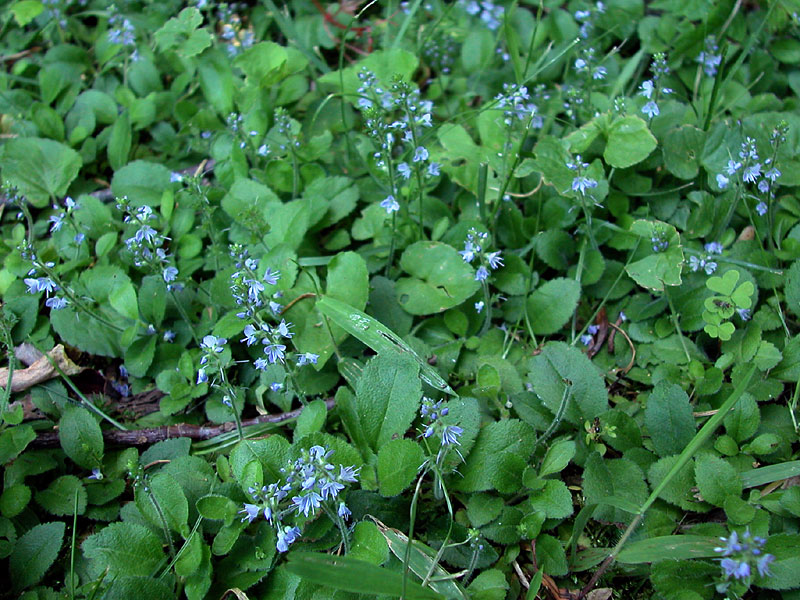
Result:
[[112,523],[89,536],[81,548],[84,555],[110,575],[150,577],[164,564],[161,542],[149,529],[135,523]]

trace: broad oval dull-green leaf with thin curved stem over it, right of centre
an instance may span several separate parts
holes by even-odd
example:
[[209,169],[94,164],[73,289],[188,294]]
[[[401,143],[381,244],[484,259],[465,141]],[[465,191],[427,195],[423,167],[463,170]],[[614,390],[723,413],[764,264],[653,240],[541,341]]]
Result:
[[526,380],[554,415],[566,399],[564,419],[583,425],[608,410],[603,378],[586,355],[564,342],[549,342],[528,360]]

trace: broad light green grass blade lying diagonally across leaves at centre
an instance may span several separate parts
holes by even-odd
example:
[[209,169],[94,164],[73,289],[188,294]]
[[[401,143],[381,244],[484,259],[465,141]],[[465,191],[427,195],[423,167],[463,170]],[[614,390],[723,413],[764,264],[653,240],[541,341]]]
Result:
[[382,352],[395,352],[411,356],[419,363],[420,377],[425,383],[439,391],[452,396],[456,395],[453,389],[433,367],[422,360],[411,346],[406,344],[400,336],[383,325],[380,321],[373,319],[360,310],[356,310],[349,304],[345,304],[344,302],[340,302],[328,296],[323,296],[317,301],[317,308],[339,327],[362,341],[378,354]]

